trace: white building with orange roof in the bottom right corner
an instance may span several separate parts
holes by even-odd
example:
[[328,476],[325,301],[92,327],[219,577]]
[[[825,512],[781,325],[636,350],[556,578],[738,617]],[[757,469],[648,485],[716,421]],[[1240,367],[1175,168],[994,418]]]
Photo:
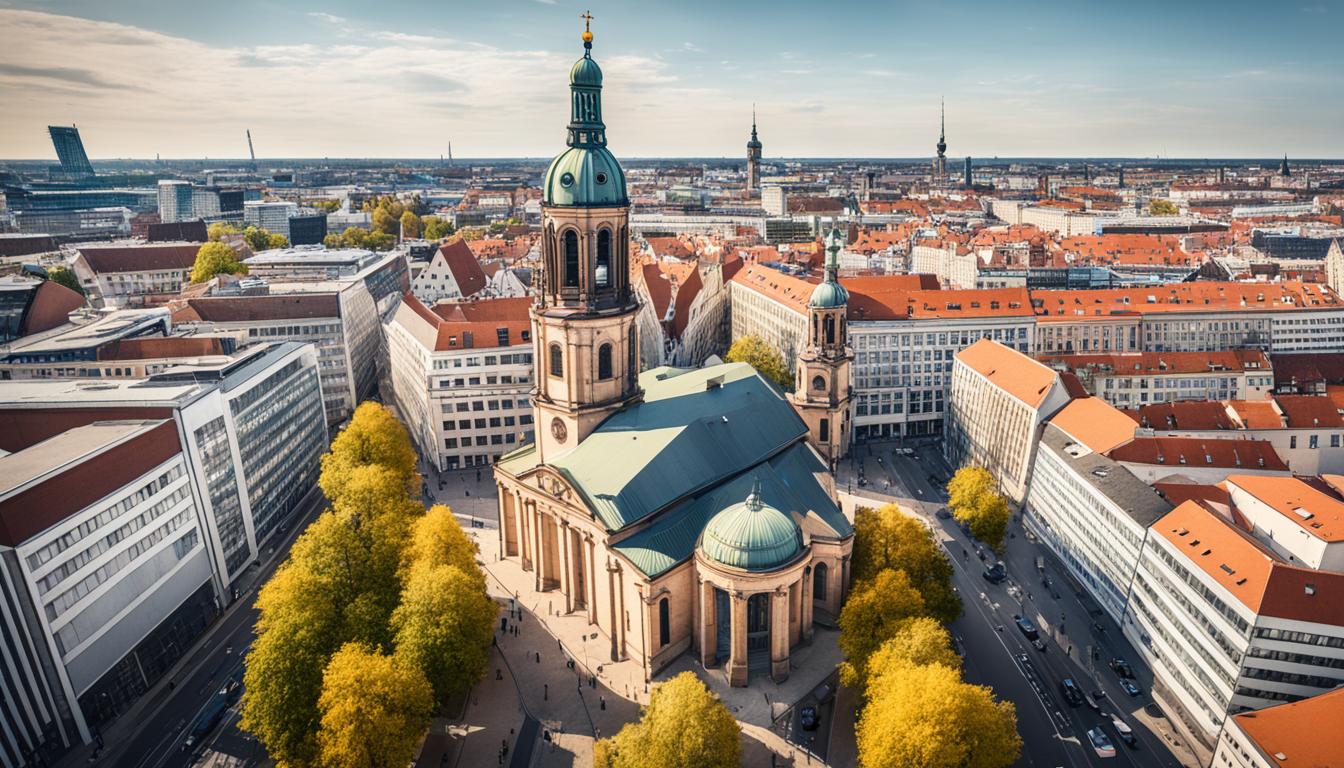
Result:
[[1228,717],[1210,768],[1344,765],[1344,690]]

